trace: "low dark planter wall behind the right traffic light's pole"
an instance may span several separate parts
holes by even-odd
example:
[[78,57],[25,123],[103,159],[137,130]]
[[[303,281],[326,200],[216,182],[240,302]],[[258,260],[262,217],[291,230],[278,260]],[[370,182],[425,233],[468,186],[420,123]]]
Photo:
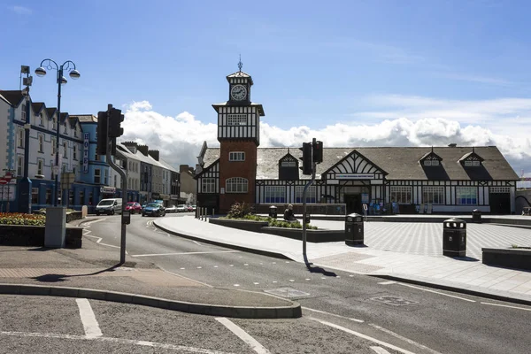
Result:
[[[295,240],[303,239],[302,228],[268,227],[266,221],[209,219],[209,222],[222,227],[233,227],[245,231],[278,235]],[[342,230],[306,230],[306,241],[308,242],[338,242],[344,240],[345,233]]]

